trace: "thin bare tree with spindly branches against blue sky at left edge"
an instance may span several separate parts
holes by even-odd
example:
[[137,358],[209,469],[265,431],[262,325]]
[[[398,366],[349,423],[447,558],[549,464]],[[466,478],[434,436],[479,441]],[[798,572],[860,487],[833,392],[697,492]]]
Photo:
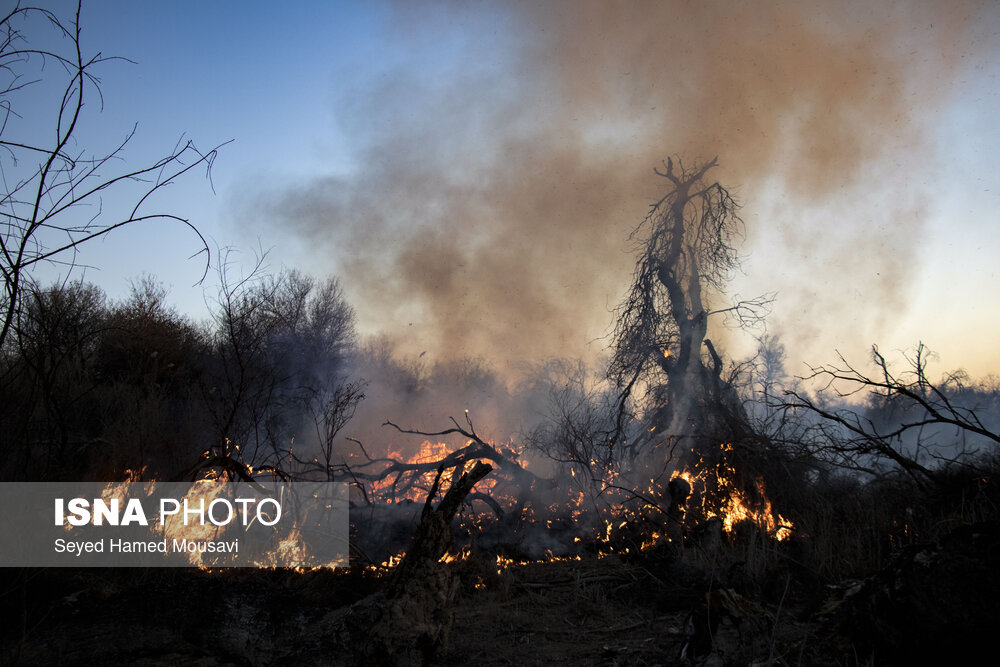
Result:
[[[154,220],[186,225],[201,241],[200,252],[206,254],[208,268],[208,246],[190,221],[147,209],[156,192],[185,173],[199,165],[210,171],[218,147],[202,153],[190,141],[181,141],[150,164],[121,168],[125,148],[135,134],[133,127],[108,150],[80,149],[88,106],[95,100],[97,108],[102,106],[96,70],[115,60],[99,52],[84,52],[80,13],[80,3],[71,19],[48,9],[16,6],[0,18],[0,149],[4,154],[0,162],[0,345],[15,325],[26,283],[39,264],[71,270],[82,244],[126,225]],[[46,29],[54,35],[46,35]],[[51,96],[54,127],[38,133],[26,119],[42,116],[36,98],[46,95]],[[24,108],[28,104],[32,108]]]

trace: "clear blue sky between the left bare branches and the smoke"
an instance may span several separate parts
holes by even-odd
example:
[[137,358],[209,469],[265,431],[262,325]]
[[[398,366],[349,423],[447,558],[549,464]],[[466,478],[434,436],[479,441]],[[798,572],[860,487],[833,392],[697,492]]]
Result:
[[[197,224],[213,251],[215,244],[235,246],[252,256],[258,244],[234,219],[234,202],[261,182],[293,182],[349,164],[334,93],[382,41],[379,14],[331,3],[296,11],[264,3],[91,3],[85,44],[135,61],[105,65],[105,111],[95,119],[102,132],[94,143],[110,145],[138,122],[129,153],[138,163],[181,137],[202,150],[231,141],[211,184],[201,173],[185,179],[170,188],[164,208]],[[143,252],[150,239],[156,251]],[[192,287],[202,259],[186,260],[198,240],[183,228],[134,228],[100,246],[88,249],[99,269],[88,279],[114,294],[128,277],[150,272],[172,286],[184,310],[204,314],[202,288]],[[275,268],[281,261],[274,258]]]

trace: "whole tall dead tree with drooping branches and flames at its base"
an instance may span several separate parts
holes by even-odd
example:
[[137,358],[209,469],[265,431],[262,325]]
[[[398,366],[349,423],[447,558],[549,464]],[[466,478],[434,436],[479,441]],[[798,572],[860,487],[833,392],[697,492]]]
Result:
[[[638,260],[612,337],[608,376],[618,397],[608,460],[630,463],[631,485],[646,502],[669,496],[668,523],[683,520],[686,503],[697,508],[692,520],[766,516],[755,523],[775,534],[766,452],[737,394],[738,369],[726,373],[708,338],[709,318],[753,326],[773,300],[765,294],[720,305],[740,267],[744,224],[730,192],[707,178],[717,164],[686,167],[678,158],[654,169],[668,191],[631,235]],[[684,466],[695,472],[684,476]],[[737,506],[745,511],[734,513]]]

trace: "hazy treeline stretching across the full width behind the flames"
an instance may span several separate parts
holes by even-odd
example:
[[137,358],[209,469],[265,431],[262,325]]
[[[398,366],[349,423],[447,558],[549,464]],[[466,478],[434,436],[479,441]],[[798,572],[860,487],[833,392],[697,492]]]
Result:
[[[923,348],[902,366],[876,350],[875,372],[843,360],[815,369],[839,378],[845,400],[790,378],[780,342],[764,339],[725,375],[744,421],[696,452],[642,412],[623,421],[613,385],[582,362],[526,367],[511,384],[483,360],[401,359],[387,337],[359,341],[336,279],[220,282],[205,322],[148,277],[122,300],[83,282],[29,289],[0,359],[2,479],[182,479],[212,461],[343,479],[345,461],[420,447],[387,419],[436,431],[468,410],[484,437],[516,438],[535,474],[594,502],[610,498],[607,480],[642,490],[655,479],[649,488],[666,493],[695,453],[751,491],[765,480],[775,511],[809,537],[800,560],[833,578],[997,516],[1000,387],[954,373],[931,382]],[[656,514],[655,496],[626,496]]]

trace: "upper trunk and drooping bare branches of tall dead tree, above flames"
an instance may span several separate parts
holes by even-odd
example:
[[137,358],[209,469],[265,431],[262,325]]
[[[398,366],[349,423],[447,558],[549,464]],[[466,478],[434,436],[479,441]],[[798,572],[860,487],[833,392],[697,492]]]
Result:
[[700,436],[717,443],[732,437],[734,418],[742,417],[707,338],[708,320],[723,315],[739,325],[756,323],[773,295],[717,305],[739,268],[744,232],[732,195],[706,179],[717,164],[715,158],[685,168],[668,159],[663,171],[655,170],[669,191],[632,234],[639,258],[613,334],[609,375],[620,389],[619,433],[631,400],[642,405],[646,433],[654,438]]

